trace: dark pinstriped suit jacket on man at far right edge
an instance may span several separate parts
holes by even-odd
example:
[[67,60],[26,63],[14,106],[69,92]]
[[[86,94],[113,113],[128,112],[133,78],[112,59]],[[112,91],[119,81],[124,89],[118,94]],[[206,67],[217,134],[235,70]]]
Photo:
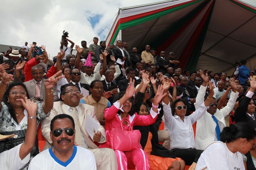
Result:
[[[234,113],[235,123],[249,122],[252,120],[251,117],[246,113],[248,110],[248,105],[249,105],[250,101],[251,101],[251,98],[244,96],[242,101],[239,103],[239,106],[235,110],[235,113]],[[254,114],[254,118],[256,118],[255,112],[253,114]]]

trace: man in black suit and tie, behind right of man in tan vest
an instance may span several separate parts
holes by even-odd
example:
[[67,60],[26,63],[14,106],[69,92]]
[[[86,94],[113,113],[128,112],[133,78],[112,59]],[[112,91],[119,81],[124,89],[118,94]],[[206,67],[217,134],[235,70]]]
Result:
[[105,79],[102,80],[102,84],[103,84],[103,88],[104,91],[111,91],[112,92],[112,96],[110,96],[107,100],[110,101],[111,104],[113,104],[113,99],[114,99],[114,95],[117,94],[117,84],[112,82],[114,79],[114,71],[112,70],[107,70],[105,73]]

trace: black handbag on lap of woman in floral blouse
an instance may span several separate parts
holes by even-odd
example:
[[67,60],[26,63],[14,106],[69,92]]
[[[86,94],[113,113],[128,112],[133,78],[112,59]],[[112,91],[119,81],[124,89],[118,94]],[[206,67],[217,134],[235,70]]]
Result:
[[[8,138],[8,139],[0,141],[0,153],[4,152],[6,150],[10,150],[11,148],[18,146],[19,144],[22,144],[25,141],[26,131],[27,131],[27,129],[18,130],[18,131],[10,131],[10,132],[0,132],[0,134],[2,134],[2,135],[14,134],[13,138]],[[35,156],[38,153],[39,153],[38,138],[36,137],[36,144],[35,144],[35,147],[31,150],[30,155]]]

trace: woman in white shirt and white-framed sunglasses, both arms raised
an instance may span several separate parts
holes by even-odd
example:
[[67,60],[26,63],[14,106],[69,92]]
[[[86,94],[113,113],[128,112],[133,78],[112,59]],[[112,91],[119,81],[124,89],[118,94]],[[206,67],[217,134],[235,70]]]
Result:
[[[206,77],[208,81],[208,77]],[[206,84],[203,84],[206,86]],[[183,159],[186,165],[191,165],[197,162],[203,150],[195,149],[194,131],[192,125],[203,116],[209,107],[213,98],[213,84],[209,82],[210,95],[204,102],[200,103],[200,107],[191,115],[185,116],[187,106],[183,103],[181,98],[173,101],[171,107],[168,97],[163,99],[163,110],[165,118],[165,126],[171,138],[170,149],[177,157]],[[165,82],[163,88],[166,91],[170,88],[170,83]],[[200,92],[203,91],[203,92]],[[198,96],[204,98],[206,88],[200,88]]]

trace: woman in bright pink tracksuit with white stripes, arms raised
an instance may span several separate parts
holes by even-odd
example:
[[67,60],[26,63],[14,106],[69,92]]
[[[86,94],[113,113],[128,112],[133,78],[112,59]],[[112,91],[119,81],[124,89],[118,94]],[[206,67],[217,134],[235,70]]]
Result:
[[[158,103],[162,100],[163,97],[163,87],[162,85],[158,87],[157,94],[153,99],[153,106],[150,110],[150,115],[142,116],[138,115],[132,109],[133,103],[133,94],[134,91],[134,80],[130,80],[130,85],[127,87],[126,92],[122,91],[117,94],[114,98],[114,104],[104,111],[104,119],[105,119],[105,130],[106,130],[106,138],[107,142],[104,147],[109,147],[109,138],[111,128],[119,128],[119,124],[121,119],[128,118],[131,123],[131,128],[133,126],[148,126],[155,123],[157,115],[159,111],[157,109]],[[124,130],[129,130],[129,127],[124,122],[122,124]],[[102,146],[103,147],[103,146]],[[135,149],[131,151],[119,151],[115,150],[117,155],[117,165],[118,169],[127,170],[136,169],[136,170],[149,170],[149,159],[146,152],[142,149]]]

